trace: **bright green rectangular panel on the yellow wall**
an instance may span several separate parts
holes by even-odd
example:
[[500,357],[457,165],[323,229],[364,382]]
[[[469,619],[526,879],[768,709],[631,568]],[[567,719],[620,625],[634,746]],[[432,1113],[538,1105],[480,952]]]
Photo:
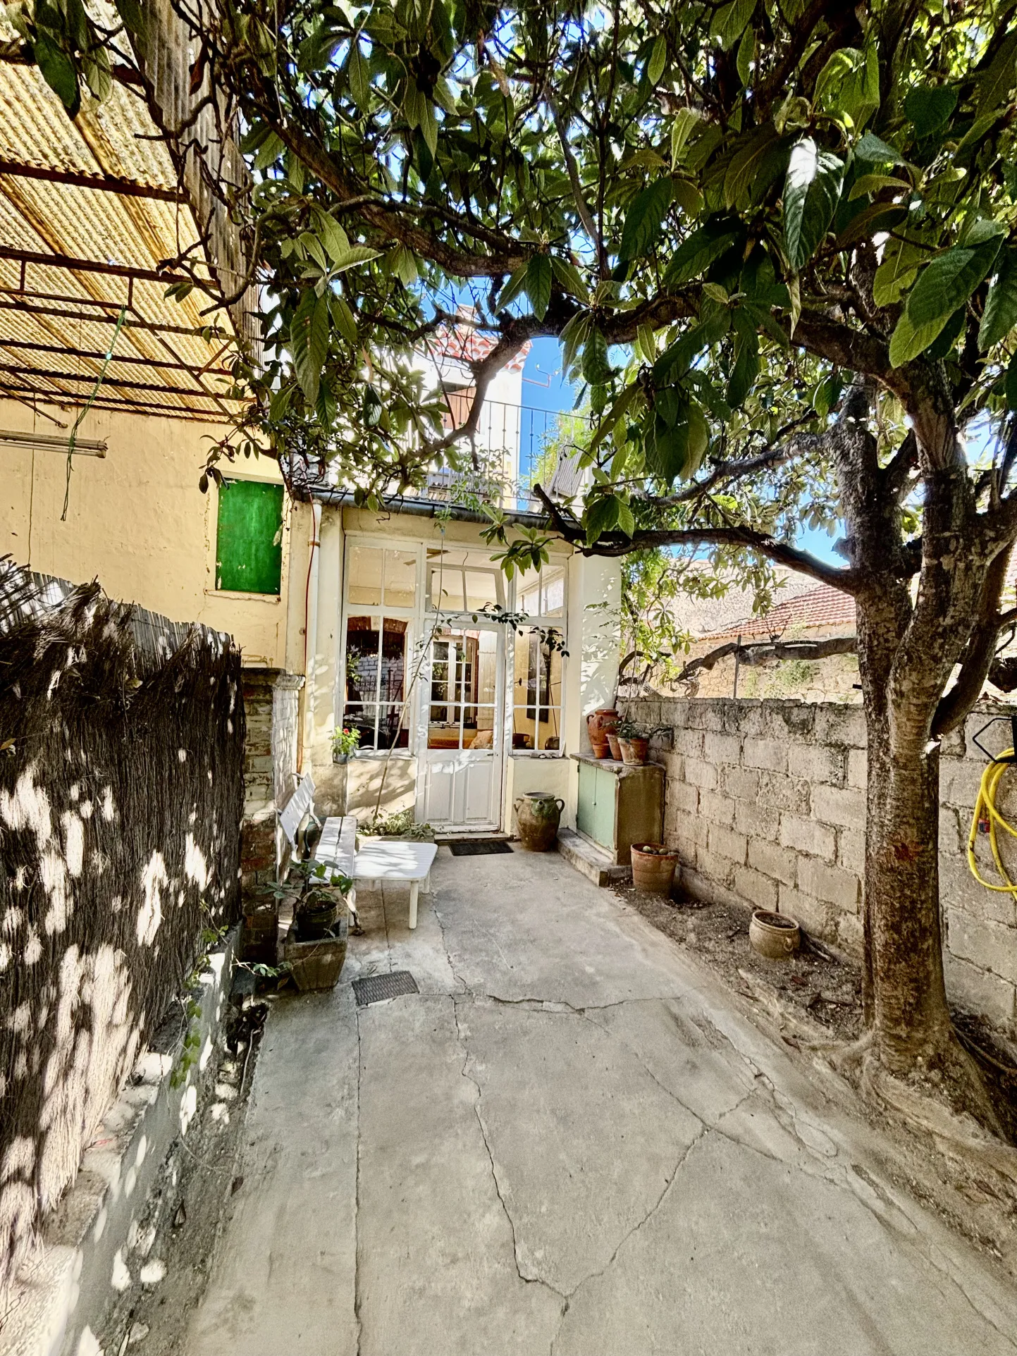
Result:
[[216,587],[278,594],[282,584],[282,485],[226,480],[218,491]]

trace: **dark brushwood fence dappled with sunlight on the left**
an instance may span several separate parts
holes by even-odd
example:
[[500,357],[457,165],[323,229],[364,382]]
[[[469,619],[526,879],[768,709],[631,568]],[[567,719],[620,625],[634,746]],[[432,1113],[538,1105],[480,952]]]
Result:
[[31,587],[0,564],[0,1290],[239,911],[239,651]]

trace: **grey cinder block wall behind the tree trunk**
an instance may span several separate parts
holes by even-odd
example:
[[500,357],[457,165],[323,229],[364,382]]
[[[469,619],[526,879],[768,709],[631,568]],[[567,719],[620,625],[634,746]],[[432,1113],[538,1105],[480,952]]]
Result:
[[[967,834],[984,755],[972,735],[999,706],[968,717],[941,755],[940,883],[952,998],[1017,1036],[1017,910],[968,872]],[[814,936],[861,955],[865,857],[865,717],[835,702],[731,698],[629,702],[664,725],[651,758],[667,772],[664,838],[689,894],[793,914]],[[983,742],[1009,746],[1005,725]],[[1017,770],[999,808],[1017,822]],[[1017,845],[1016,845],[1017,846]],[[1017,852],[1003,849],[1017,879]],[[983,876],[994,880],[987,839]]]

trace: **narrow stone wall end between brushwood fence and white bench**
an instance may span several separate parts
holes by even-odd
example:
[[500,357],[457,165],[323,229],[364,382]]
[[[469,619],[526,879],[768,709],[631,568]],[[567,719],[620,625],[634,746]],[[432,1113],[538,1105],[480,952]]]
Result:
[[304,679],[279,669],[245,669],[243,682],[247,740],[240,869],[243,883],[250,884],[275,871],[275,812],[294,788]]

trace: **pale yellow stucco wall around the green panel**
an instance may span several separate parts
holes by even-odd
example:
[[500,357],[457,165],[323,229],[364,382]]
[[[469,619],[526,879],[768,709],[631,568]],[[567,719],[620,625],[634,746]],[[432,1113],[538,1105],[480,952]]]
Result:
[[[71,411],[50,412],[68,427],[75,418]],[[3,400],[0,428],[65,433]],[[283,514],[279,598],[216,591],[218,500],[214,485],[202,495],[198,479],[210,438],[221,431],[188,420],[92,411],[79,437],[104,439],[108,450],[104,458],[75,457],[66,522],[60,521],[66,466],[61,452],[0,443],[0,553],[73,583],[98,579],[111,598],[138,602],[174,621],[228,631],[248,664],[292,667],[286,663],[289,514]],[[224,472],[279,480],[268,458],[241,458]]]

